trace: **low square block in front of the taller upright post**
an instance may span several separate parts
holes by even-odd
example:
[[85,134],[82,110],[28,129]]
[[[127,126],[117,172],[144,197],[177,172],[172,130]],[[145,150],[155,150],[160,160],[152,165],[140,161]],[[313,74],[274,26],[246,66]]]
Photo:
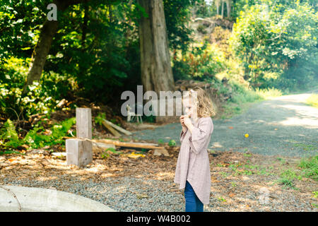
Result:
[[93,161],[93,145],[90,141],[66,140],[66,164],[84,167]]

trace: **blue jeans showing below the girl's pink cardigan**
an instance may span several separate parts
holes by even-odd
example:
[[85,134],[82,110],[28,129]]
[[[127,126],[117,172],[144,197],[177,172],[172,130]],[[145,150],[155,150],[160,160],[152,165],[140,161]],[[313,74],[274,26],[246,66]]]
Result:
[[204,204],[199,200],[191,184],[187,181],[184,188],[184,198],[186,200],[186,212],[203,212]]

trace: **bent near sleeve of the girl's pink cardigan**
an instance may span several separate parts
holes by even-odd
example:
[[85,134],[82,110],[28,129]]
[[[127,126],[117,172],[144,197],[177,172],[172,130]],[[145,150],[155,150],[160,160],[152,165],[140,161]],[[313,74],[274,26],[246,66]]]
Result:
[[213,122],[212,119],[206,118],[199,122],[198,127],[192,129],[192,134],[189,136],[189,145],[193,153],[199,154],[200,151],[206,145],[208,136],[213,131]]

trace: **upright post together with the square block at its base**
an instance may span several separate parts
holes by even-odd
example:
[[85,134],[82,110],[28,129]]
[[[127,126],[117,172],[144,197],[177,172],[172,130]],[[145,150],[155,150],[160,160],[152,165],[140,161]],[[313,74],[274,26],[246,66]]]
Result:
[[76,136],[66,140],[66,164],[84,167],[93,161],[93,144],[83,138],[92,139],[92,111],[76,108]]

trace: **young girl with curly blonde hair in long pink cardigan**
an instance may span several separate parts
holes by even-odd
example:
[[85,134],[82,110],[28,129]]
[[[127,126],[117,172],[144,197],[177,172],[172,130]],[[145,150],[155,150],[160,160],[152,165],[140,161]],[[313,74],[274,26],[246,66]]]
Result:
[[180,117],[181,147],[175,169],[175,183],[184,189],[185,211],[203,212],[210,201],[211,172],[208,143],[213,132],[213,106],[206,92],[194,88],[184,95],[186,115]]

